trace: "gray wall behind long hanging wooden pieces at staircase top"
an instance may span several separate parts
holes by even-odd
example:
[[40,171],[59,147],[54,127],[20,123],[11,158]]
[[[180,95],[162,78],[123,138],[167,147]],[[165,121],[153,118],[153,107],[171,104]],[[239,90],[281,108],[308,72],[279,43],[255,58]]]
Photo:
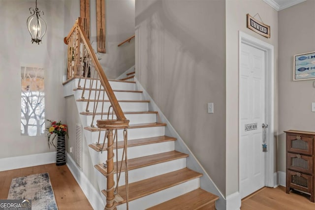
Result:
[[[65,0],[66,34],[80,16],[80,1]],[[115,79],[134,65],[134,39],[120,47],[118,44],[134,35],[134,0],[106,0],[106,54],[99,53],[107,78]],[[91,43],[96,52],[96,1],[90,1]]]

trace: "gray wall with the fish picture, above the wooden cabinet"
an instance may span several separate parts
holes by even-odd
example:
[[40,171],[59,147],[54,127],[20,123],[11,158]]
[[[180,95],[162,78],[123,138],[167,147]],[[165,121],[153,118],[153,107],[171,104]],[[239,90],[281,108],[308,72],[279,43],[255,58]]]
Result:
[[[315,131],[314,80],[293,82],[294,55],[314,51],[315,1],[307,0],[279,12],[279,136],[278,171],[285,172],[283,131]],[[303,21],[301,21],[303,20]]]

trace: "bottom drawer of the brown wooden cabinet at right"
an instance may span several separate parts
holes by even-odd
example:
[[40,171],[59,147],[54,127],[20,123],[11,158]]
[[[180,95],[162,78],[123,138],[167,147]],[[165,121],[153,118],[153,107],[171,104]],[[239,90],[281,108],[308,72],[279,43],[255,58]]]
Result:
[[313,177],[295,171],[286,170],[286,183],[290,188],[312,193]]

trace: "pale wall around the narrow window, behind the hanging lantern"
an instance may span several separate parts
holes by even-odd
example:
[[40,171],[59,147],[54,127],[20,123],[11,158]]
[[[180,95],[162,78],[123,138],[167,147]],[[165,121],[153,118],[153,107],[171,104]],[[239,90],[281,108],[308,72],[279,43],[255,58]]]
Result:
[[[47,32],[39,45],[31,43],[26,21],[34,0],[0,0],[0,158],[43,153],[47,135],[21,136],[21,66],[38,64],[45,69],[45,116],[65,121],[63,98],[64,0],[39,1]],[[48,124],[46,125],[48,127]]]

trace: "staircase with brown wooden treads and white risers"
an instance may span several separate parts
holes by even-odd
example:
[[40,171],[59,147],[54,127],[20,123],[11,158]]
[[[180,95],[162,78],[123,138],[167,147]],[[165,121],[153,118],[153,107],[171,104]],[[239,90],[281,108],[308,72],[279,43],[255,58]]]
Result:
[[[69,40],[67,43],[77,44],[77,46],[68,46],[70,57],[68,56],[68,81],[66,85],[72,89],[80,112],[84,135],[95,167],[95,177],[99,189],[104,195],[105,209],[112,209],[112,207],[107,207],[109,202],[105,197],[109,195],[108,188],[111,188],[106,183],[106,180],[109,180],[109,177],[106,178],[106,176],[109,176],[107,170],[111,171],[112,166],[109,163],[104,167],[103,163],[109,159],[108,154],[112,151],[107,150],[107,145],[103,147],[102,140],[106,131],[113,129],[104,129],[99,123],[103,121],[109,123],[110,120],[106,120],[107,115],[102,114],[103,110],[108,110],[111,105],[118,101],[119,105],[117,107],[122,112],[121,110],[117,112],[113,108],[116,113],[114,113],[113,119],[120,118],[122,121],[126,118],[129,120],[129,124],[125,125],[128,137],[129,209],[215,210],[215,201],[218,200],[218,196],[200,188],[199,179],[202,174],[186,167],[186,158],[189,155],[175,150],[176,138],[165,136],[166,124],[157,121],[158,112],[149,110],[150,101],[144,99],[142,91],[136,90],[136,82],[128,81],[133,80],[134,73],[132,78],[128,78],[131,76],[127,75],[125,80],[107,80],[105,75],[93,78],[88,78],[87,75],[85,75],[85,78],[82,76],[88,67],[95,68],[91,72],[97,71],[98,74],[103,74],[95,55],[92,54],[92,46],[86,41],[86,35],[82,31],[83,29],[77,22],[76,27],[73,28],[73,33],[70,32],[69,36],[65,38],[65,40]],[[80,42],[75,41],[80,40],[80,36],[84,41],[82,49],[79,46]],[[74,66],[71,65],[72,61],[70,60],[72,52],[78,56],[80,55],[79,59],[74,61]],[[90,60],[91,63],[87,64],[84,61],[86,58],[91,58],[93,62]],[[101,78],[101,81],[99,78]],[[99,86],[100,83],[101,86]],[[104,89],[106,89],[107,94],[105,94]],[[115,96],[108,94],[108,91],[113,92]],[[98,103],[99,106],[97,106]],[[98,120],[97,126],[94,124],[96,120]],[[127,120],[125,122],[128,123]],[[108,136],[109,134],[106,134],[106,137]],[[124,129],[118,129],[117,136],[118,141],[117,143],[114,142],[113,145],[114,161],[116,161],[117,156],[121,159],[124,152]],[[110,137],[107,139],[107,142],[112,141],[109,140]],[[113,138],[111,137],[111,139]],[[118,165],[120,166],[121,162],[118,162]],[[124,165],[122,164],[122,166]],[[116,202],[117,210],[126,210],[125,170],[125,167],[122,167],[121,178],[117,183],[116,174],[118,169],[116,163],[113,164],[115,175],[110,179],[114,179],[115,183],[118,184],[118,194],[122,198]],[[112,203],[109,206],[111,205]]]

